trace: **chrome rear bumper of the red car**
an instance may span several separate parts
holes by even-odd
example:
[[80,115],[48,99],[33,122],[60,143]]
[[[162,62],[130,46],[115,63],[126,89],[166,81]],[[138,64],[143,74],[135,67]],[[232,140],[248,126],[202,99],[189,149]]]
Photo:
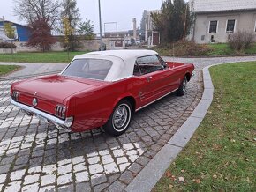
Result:
[[26,106],[24,104],[21,104],[19,102],[16,102],[15,100],[12,100],[11,98],[11,103],[16,106],[16,107],[19,107],[29,113],[32,113],[32,114],[38,114],[44,118],[46,118],[47,120],[49,120],[49,122],[55,122],[56,124],[59,124],[59,125],[63,125],[64,126],[64,121],[63,120],[60,120],[58,119],[56,116],[53,116],[51,114],[47,114],[47,113],[44,113],[34,107],[29,107],[29,106]]

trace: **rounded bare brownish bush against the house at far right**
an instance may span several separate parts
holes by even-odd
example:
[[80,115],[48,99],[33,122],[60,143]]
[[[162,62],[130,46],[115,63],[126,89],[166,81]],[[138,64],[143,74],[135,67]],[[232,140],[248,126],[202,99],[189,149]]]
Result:
[[254,42],[254,34],[246,31],[238,31],[237,33],[230,35],[228,42],[230,48],[237,52],[241,52],[252,46],[252,43]]

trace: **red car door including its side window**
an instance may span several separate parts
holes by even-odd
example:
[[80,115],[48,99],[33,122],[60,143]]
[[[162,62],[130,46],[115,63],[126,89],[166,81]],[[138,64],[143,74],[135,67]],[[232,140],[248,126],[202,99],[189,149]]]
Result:
[[167,69],[157,55],[139,57],[136,64],[137,74],[139,71],[137,77],[143,83],[139,88],[139,99],[144,106],[168,91],[169,82],[165,71]]

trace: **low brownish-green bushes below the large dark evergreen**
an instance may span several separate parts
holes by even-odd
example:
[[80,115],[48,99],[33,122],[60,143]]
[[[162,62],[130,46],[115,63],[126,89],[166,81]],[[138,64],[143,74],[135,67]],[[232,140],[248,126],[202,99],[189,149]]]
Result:
[[164,47],[154,47],[160,55],[168,56],[199,56],[207,55],[209,51],[213,48],[209,48],[207,45],[196,44],[192,41],[177,41],[175,43],[170,43]]

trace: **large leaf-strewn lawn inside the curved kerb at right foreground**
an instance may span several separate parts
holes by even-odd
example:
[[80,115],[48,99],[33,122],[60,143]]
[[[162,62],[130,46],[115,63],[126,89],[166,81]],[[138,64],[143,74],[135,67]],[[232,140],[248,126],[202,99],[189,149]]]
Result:
[[210,68],[207,116],[153,191],[256,191],[255,71],[256,62]]

